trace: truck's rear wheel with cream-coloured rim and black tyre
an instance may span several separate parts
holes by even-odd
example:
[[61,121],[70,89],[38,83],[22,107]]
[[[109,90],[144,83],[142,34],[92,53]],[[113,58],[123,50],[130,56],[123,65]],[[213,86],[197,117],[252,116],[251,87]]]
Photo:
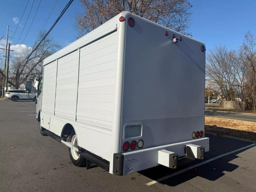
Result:
[[[77,135],[74,130],[69,135],[69,142],[72,143],[74,147],[78,148]],[[70,156],[71,162],[75,166],[83,167],[86,165],[87,160],[84,157],[82,157],[76,150],[69,148],[69,156]]]

